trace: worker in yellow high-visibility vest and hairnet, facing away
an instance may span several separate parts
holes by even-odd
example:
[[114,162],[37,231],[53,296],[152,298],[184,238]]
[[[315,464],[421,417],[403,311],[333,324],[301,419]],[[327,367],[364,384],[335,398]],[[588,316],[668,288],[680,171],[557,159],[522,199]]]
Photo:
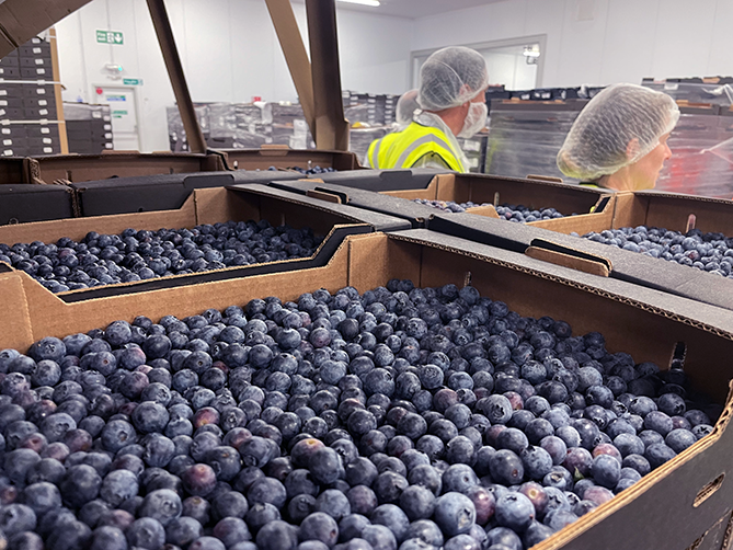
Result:
[[[420,77],[416,104],[411,104],[408,96],[402,108],[409,115],[412,107],[410,124],[374,141],[367,164],[378,169],[443,168],[468,172],[466,154],[456,137],[470,138],[486,124],[486,62],[473,49],[448,47],[427,58]],[[409,119],[402,118],[405,123]]]

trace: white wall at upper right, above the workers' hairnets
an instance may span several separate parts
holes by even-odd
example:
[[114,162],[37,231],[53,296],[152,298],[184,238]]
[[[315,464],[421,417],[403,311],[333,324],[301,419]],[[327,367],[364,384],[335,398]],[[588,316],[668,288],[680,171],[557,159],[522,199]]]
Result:
[[543,87],[733,73],[731,0],[506,0],[417,19],[413,50],[547,35]]

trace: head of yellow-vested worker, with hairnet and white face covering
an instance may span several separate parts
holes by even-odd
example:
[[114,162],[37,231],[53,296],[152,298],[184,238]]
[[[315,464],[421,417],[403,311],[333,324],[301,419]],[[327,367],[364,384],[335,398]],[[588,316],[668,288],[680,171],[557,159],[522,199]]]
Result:
[[483,56],[471,48],[443,48],[420,70],[417,103],[435,113],[459,137],[471,137],[486,122],[484,92],[489,72]]

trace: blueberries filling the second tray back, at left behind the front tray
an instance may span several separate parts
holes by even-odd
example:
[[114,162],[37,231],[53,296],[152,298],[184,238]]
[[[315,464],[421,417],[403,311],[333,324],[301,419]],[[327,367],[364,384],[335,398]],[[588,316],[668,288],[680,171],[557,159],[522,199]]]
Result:
[[119,234],[0,244],[0,262],[22,270],[53,293],[201,273],[312,255],[323,238],[309,228],[267,220],[228,221],[193,229],[125,229]]

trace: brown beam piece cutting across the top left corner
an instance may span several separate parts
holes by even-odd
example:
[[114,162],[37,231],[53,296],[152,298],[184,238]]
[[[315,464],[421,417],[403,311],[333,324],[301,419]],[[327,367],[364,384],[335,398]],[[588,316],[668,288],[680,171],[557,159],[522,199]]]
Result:
[[0,2],[0,58],[54,26],[91,0],[4,0]]

